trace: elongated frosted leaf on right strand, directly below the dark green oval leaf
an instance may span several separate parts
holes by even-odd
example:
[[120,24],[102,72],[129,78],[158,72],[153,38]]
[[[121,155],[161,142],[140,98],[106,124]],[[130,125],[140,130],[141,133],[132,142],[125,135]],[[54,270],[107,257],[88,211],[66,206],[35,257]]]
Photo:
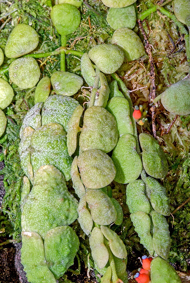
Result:
[[170,215],[170,202],[167,197],[165,187],[151,177],[147,177],[145,182],[151,191],[150,201],[153,209],[162,215]]

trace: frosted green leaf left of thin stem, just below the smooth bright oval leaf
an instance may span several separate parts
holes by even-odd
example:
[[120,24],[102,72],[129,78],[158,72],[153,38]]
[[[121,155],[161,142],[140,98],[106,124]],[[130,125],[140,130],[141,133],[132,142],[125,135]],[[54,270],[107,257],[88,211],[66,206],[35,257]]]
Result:
[[149,214],[150,203],[145,195],[145,184],[142,180],[130,182],[126,188],[126,195],[130,213],[143,211]]

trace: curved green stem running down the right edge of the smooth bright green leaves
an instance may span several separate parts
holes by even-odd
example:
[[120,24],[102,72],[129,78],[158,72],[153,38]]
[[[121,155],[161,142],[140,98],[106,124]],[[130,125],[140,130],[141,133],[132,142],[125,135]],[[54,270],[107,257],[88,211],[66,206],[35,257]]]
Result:
[[137,134],[137,126],[136,126],[136,122],[133,118],[134,108],[133,108],[133,104],[132,104],[132,101],[131,101],[131,98],[130,98],[129,90],[125,86],[125,83],[120,79],[120,77],[116,73],[111,74],[111,76],[113,77],[113,79],[115,79],[115,81],[117,81],[117,83],[120,86],[125,98],[129,102],[130,118],[131,118],[133,129],[134,129],[134,138],[136,140],[136,150],[137,150],[137,153],[141,156],[141,151],[140,151],[140,147],[139,147],[139,139],[138,139],[138,134]]

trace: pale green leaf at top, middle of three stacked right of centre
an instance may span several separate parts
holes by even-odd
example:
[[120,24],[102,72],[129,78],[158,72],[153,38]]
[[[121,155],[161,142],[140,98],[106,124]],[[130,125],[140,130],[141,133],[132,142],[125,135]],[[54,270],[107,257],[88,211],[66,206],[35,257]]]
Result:
[[136,13],[134,5],[123,8],[109,8],[107,22],[111,28],[134,28],[136,25]]

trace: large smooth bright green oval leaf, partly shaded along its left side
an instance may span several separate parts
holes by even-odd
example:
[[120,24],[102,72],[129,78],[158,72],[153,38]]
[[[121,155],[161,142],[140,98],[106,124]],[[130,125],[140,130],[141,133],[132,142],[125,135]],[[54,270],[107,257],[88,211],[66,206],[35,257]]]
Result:
[[126,184],[139,177],[142,162],[136,151],[136,140],[131,134],[124,134],[118,139],[113,149],[112,160],[116,168],[116,182]]

